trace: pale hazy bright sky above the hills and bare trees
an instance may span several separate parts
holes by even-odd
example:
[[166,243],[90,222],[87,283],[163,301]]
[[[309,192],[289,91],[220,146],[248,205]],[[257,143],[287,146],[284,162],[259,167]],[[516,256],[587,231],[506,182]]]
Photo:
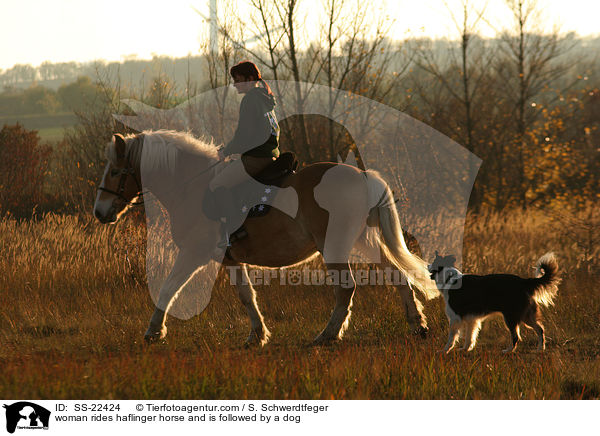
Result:
[[[486,18],[495,26],[506,20],[504,0],[473,1],[488,4]],[[600,33],[597,0],[539,1],[546,5],[544,23],[548,28],[558,22],[563,31]],[[314,26],[311,21],[318,16],[315,11],[322,0],[301,2],[310,10],[306,26]],[[239,3],[239,10],[244,11],[247,2]],[[460,0],[447,3],[456,5]],[[45,60],[120,60],[131,54],[150,58],[153,53],[195,55],[208,33],[207,24],[192,6],[208,15],[208,0],[1,0],[0,69],[17,63],[39,65]],[[440,37],[454,31],[444,0],[387,0],[385,13],[394,20],[390,35],[394,38]],[[493,34],[487,24],[480,27],[481,33]]]

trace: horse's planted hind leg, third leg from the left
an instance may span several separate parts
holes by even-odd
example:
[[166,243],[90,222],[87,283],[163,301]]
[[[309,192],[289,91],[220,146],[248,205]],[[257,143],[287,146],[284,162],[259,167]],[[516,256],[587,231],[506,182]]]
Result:
[[350,322],[352,296],[356,281],[348,263],[328,263],[327,275],[334,281],[335,307],[325,329],[315,338],[314,344],[324,344],[342,338]]

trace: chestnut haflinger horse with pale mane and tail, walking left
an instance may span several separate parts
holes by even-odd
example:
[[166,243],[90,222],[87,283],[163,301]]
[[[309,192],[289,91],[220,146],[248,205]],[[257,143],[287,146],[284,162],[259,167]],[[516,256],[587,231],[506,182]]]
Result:
[[[235,286],[250,317],[247,345],[264,345],[270,332],[261,314],[248,266],[281,268],[298,264],[319,252],[327,273],[349,276],[349,284],[334,283],[335,307],[329,323],[315,338],[315,344],[341,339],[348,326],[356,281],[349,263],[353,249],[375,247],[381,254],[380,267],[399,270],[407,281],[400,285],[407,320],[416,333],[428,332],[423,306],[413,288],[426,298],[437,296],[426,263],[412,254],[404,241],[393,194],[375,171],[362,171],[342,163],[314,163],[290,174],[283,187],[297,193],[297,213],[292,217],[273,207],[261,218],[246,220],[248,236],[236,241],[227,256],[217,248],[219,223],[209,220],[201,208],[181,207],[201,204],[209,181],[218,171],[217,148],[187,133],[145,131],[123,137],[115,134],[106,146],[108,163],[98,188],[94,215],[102,223],[115,223],[142,196],[142,171],[156,177],[144,183],[167,210],[171,235],[178,248],[172,270],[162,284],[156,309],[145,334],[147,342],[162,339],[169,307],[190,278],[211,260],[224,266],[237,266]],[[209,169],[209,170],[207,170]],[[335,171],[334,171],[335,170]],[[337,210],[331,214],[323,206],[327,190],[322,189],[326,175],[335,175],[333,193]],[[331,177],[330,177],[331,178]],[[182,185],[182,180],[193,183]],[[368,181],[368,183],[365,183]],[[319,195],[316,192],[319,191]],[[323,194],[325,192],[325,194]],[[320,196],[320,199],[319,199]],[[331,195],[329,195],[331,197]],[[327,198],[325,198],[327,200]],[[366,211],[365,213],[361,210]],[[329,229],[328,229],[329,228]],[[335,230],[337,239],[328,237]],[[211,249],[207,249],[211,247]]]

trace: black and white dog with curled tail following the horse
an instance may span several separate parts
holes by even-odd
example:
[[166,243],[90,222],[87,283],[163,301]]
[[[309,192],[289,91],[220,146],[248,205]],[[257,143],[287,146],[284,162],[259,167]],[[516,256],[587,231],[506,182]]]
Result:
[[[536,265],[538,278],[521,278],[512,274],[490,274],[477,276],[461,274],[454,267],[454,256],[440,256],[429,265],[431,279],[446,302],[446,315],[450,323],[448,353],[456,344],[461,331],[464,333],[464,349],[475,348],[481,323],[493,313],[501,313],[510,331],[512,352],[521,339],[519,324],[535,330],[538,335],[538,350],[545,349],[544,326],[541,323],[539,305],[549,306],[558,292],[560,278],[558,262],[553,253],[544,254]],[[541,275],[541,270],[544,275]]]

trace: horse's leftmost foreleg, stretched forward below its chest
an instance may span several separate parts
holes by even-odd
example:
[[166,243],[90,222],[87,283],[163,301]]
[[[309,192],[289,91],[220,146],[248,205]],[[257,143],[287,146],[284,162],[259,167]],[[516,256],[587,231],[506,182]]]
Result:
[[160,288],[156,309],[152,318],[150,318],[150,325],[144,335],[146,342],[151,343],[167,336],[165,321],[169,307],[171,307],[177,293],[198,270],[201,260],[201,256],[193,251],[182,250],[179,252],[173,269]]

